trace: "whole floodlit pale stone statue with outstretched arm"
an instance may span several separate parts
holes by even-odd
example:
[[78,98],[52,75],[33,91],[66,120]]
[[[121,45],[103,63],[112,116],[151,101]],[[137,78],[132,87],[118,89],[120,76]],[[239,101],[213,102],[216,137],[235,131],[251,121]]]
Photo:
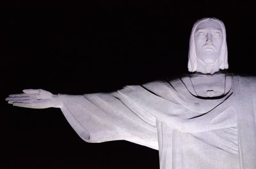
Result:
[[189,75],[111,93],[26,89],[6,100],[61,108],[86,142],[127,140],[159,150],[161,169],[256,168],[256,79],[227,68],[225,26],[204,18],[191,32]]

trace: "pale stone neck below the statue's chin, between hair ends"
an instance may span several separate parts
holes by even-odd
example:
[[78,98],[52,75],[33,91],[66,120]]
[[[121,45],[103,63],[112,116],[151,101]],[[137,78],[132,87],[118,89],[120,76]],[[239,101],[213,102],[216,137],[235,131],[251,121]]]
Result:
[[204,74],[214,74],[220,70],[220,66],[218,64],[218,59],[213,63],[205,63],[198,59],[197,61],[197,72],[204,73]]

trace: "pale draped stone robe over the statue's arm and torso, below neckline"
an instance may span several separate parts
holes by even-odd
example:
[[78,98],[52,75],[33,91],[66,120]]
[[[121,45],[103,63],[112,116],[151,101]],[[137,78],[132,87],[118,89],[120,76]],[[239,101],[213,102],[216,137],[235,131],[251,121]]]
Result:
[[195,97],[188,76],[111,93],[59,94],[86,142],[127,140],[159,150],[161,169],[256,168],[256,78],[232,75],[220,98]]

